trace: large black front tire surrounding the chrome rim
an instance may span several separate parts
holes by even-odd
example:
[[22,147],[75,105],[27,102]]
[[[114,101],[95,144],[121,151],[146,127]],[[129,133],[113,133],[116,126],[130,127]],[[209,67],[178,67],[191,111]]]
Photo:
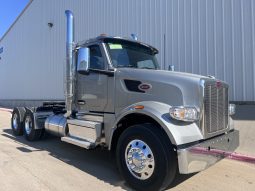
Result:
[[[133,172],[132,174],[132,170],[128,168],[127,163],[129,162],[126,163],[126,152],[131,150],[132,144],[129,144],[134,140],[141,140],[141,144],[146,143],[154,156],[155,165],[153,172],[144,180],[135,177],[133,174],[136,175],[136,173]],[[132,154],[132,156],[134,155]],[[167,188],[173,182],[177,172],[177,156],[173,145],[163,130],[153,124],[140,124],[127,128],[118,140],[116,160],[119,171],[124,179],[130,186],[141,191],[156,191]],[[149,158],[146,160],[149,160]],[[132,159],[130,161],[134,160]],[[146,173],[145,175],[148,174]]]

